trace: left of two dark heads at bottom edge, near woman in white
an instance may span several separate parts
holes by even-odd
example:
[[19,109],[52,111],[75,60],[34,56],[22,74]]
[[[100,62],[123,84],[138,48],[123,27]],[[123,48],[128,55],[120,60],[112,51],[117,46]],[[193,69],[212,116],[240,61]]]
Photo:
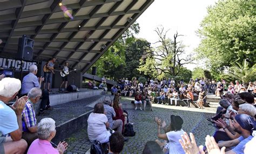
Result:
[[109,138],[109,154],[118,154],[124,148],[124,137],[119,132],[114,132]]

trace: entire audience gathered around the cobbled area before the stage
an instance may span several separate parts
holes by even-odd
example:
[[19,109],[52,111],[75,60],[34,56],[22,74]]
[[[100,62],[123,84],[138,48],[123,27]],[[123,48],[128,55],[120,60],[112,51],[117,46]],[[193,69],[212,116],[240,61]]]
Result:
[[[33,104],[44,94],[41,87],[43,78],[35,78],[36,67],[30,67],[30,74],[22,81],[14,78],[1,77],[0,80],[0,153],[64,153],[68,143],[59,142],[55,148],[51,144],[56,135],[56,125],[52,118],[43,118],[39,123]],[[27,80],[31,79],[31,80]],[[29,82],[31,81],[31,82]],[[106,81],[103,80],[103,84]],[[23,85],[22,85],[23,84]],[[198,96],[198,104],[202,104],[207,93],[220,96],[220,107],[216,115],[207,120],[217,130],[212,137],[206,137],[206,146],[198,148],[193,134],[190,136],[182,129],[183,119],[178,115],[171,115],[170,124],[156,117],[157,136],[162,139],[147,142],[143,153],[251,153],[255,151],[255,85],[250,82],[248,87],[238,81],[227,86],[224,95],[224,81],[190,80],[188,84],[173,79],[161,81],[148,79],[144,84],[136,78],[132,81],[119,79],[118,85],[113,86],[111,93],[114,99],[106,96],[103,102],[97,103],[93,113],[87,119],[87,133],[91,142],[95,140],[108,145],[109,153],[120,153],[123,149],[126,131],[129,125],[129,115],[122,109],[120,95],[134,96],[135,109],[144,110],[146,104],[163,103],[178,105],[178,100],[190,102]],[[104,87],[104,86],[102,86]],[[16,96],[22,88],[24,96]],[[49,97],[46,96],[46,97]],[[16,100],[12,106],[6,104]],[[49,100],[43,103],[41,109],[50,109]],[[174,101],[174,103],[173,103]],[[42,105],[42,104],[41,104]],[[42,113],[44,114],[44,113]],[[164,133],[161,132],[163,129]],[[224,152],[225,151],[225,152]]]

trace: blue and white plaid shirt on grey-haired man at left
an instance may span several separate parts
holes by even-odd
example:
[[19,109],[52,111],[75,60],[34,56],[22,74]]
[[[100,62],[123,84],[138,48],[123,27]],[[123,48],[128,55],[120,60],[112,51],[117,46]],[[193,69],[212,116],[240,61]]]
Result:
[[29,131],[28,128],[36,125],[36,113],[33,108],[33,103],[28,100],[26,101],[25,108],[22,112],[22,130]]

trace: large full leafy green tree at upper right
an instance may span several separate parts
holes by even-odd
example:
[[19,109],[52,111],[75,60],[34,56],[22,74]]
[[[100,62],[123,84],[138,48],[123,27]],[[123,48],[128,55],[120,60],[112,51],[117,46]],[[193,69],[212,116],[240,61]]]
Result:
[[231,61],[248,65],[256,61],[256,1],[221,0],[207,8],[208,15],[201,22],[198,34],[201,43],[197,48],[200,58],[219,74]]

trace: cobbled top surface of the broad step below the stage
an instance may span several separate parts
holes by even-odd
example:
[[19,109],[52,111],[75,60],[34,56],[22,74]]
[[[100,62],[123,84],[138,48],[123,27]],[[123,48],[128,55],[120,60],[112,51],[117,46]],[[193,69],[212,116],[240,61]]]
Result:
[[53,110],[48,110],[49,115],[47,116],[37,116],[37,122],[40,122],[42,118],[51,117],[55,120],[56,125],[59,125],[65,121],[70,120],[71,118],[78,117],[90,111],[92,108],[86,107],[88,104],[96,101],[102,95],[88,97],[82,100],[71,101],[64,104],[58,104],[56,106],[52,106]]

